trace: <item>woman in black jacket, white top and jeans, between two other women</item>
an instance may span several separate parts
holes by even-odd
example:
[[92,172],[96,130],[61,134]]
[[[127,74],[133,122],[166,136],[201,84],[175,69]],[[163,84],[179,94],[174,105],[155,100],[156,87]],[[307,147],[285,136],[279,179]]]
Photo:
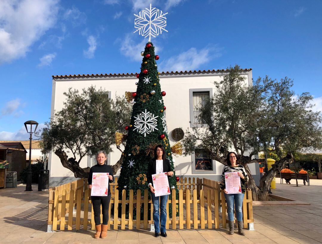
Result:
[[[171,170],[170,161],[166,159],[166,152],[162,145],[156,146],[154,149],[154,159],[150,159],[147,167],[147,182],[151,191],[153,202],[153,221],[155,228],[155,237],[159,236],[161,222],[161,236],[166,237],[166,203],[168,195],[155,196],[155,188],[153,187],[152,175],[167,172],[168,177],[172,177],[174,172]],[[160,203],[159,203],[160,201]],[[161,211],[161,215],[159,212]]]

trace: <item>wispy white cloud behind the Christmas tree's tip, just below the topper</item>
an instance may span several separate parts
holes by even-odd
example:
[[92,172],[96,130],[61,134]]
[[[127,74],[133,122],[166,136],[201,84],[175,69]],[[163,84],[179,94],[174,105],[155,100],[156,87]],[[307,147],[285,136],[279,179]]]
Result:
[[[135,43],[133,40],[133,34],[127,34],[122,40],[122,45],[120,48],[121,54],[129,57],[133,61],[142,61],[141,51],[144,51],[144,47],[148,39],[143,39],[139,43]],[[155,43],[155,42],[154,42]],[[160,47],[155,45],[155,53],[160,51]]]

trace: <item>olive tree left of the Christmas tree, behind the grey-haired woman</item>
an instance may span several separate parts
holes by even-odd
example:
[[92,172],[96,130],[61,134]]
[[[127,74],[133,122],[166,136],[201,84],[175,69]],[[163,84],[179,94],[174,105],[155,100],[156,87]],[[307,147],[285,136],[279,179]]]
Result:
[[[81,168],[81,160],[100,150],[112,151],[115,133],[124,132],[129,123],[131,105],[118,96],[108,98],[106,91],[94,86],[84,88],[82,93],[70,88],[64,95],[63,109],[55,112],[40,135],[42,147],[46,152],[53,151],[76,178],[87,178],[90,168]],[[73,156],[68,158],[65,151]],[[123,155],[113,165],[114,173],[122,162]]]

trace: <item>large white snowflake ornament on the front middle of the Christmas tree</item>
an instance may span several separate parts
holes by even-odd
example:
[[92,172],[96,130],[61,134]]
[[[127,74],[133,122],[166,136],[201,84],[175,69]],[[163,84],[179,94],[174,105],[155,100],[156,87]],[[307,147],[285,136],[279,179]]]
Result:
[[145,112],[141,112],[139,115],[134,116],[134,130],[137,132],[144,134],[146,137],[147,134],[150,134],[154,130],[159,130],[156,128],[157,126],[157,119],[159,116],[155,116],[154,114],[150,113],[145,109]]

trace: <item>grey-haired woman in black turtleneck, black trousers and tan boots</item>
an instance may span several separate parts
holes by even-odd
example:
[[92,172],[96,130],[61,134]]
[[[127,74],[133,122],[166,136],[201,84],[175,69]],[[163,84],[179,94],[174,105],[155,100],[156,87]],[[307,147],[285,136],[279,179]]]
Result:
[[[88,176],[88,187],[92,188],[93,173],[109,173],[109,183],[114,181],[112,167],[105,164],[107,154],[105,151],[100,151],[96,154],[97,164],[90,168],[90,175]],[[94,221],[96,233],[94,238],[106,238],[107,236],[107,222],[109,221],[109,201],[111,200],[111,191],[108,190],[107,196],[91,196],[91,201],[94,211]],[[102,205],[103,223],[100,222],[100,206]]]

